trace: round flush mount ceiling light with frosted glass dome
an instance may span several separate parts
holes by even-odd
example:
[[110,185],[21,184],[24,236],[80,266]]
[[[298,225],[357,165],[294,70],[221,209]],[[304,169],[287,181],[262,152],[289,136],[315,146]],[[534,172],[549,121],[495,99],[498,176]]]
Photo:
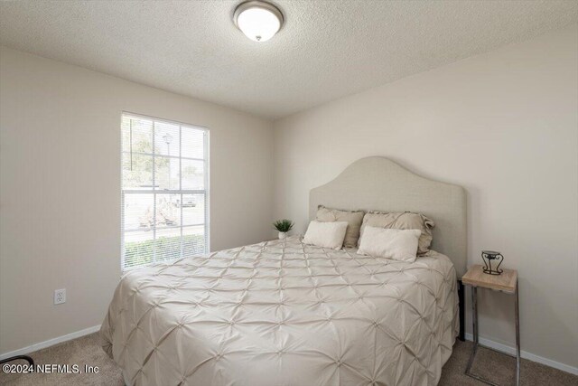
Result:
[[233,21],[247,38],[255,42],[266,42],[281,29],[283,14],[270,3],[247,1],[235,9]]

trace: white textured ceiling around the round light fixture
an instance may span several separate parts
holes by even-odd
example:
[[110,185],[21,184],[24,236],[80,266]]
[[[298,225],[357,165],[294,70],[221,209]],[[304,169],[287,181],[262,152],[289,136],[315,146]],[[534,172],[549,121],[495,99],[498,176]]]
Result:
[[268,118],[578,21],[578,1],[276,1],[286,23],[252,42],[240,1],[17,1],[0,42]]

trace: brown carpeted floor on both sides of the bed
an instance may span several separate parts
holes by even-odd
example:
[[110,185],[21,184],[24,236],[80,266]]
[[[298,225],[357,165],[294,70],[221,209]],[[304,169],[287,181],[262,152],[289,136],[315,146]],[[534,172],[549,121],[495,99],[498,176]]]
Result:
[[[443,366],[440,385],[484,385],[475,381],[463,372],[471,353],[470,342],[457,342],[453,347],[450,360]],[[47,349],[32,353],[37,363],[79,364],[82,369],[85,364],[98,366],[98,373],[35,373],[35,374],[5,374],[0,371],[0,384],[6,385],[123,385],[123,379],[115,362],[107,357],[98,345],[98,334],[90,334],[70,342],[58,344]],[[18,362],[14,362],[18,363]],[[25,363],[25,362],[23,362]],[[507,355],[480,349],[476,356],[473,372],[499,385],[514,384],[514,368],[516,360]],[[578,385],[578,376],[561,372],[536,362],[522,360],[521,384],[530,385]]]

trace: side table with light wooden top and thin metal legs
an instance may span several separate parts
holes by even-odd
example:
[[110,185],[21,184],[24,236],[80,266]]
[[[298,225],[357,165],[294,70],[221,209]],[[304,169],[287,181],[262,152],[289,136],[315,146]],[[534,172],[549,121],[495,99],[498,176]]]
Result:
[[[520,322],[519,322],[519,306],[517,296],[519,289],[517,287],[517,271],[514,269],[504,269],[501,275],[488,275],[483,272],[482,266],[475,265],[468,269],[468,272],[461,278],[463,284],[471,286],[471,310],[472,310],[472,327],[473,327],[473,350],[471,351],[468,367],[466,367],[466,375],[471,376],[478,381],[488,383],[489,385],[498,386],[492,381],[488,381],[479,375],[471,373],[471,365],[476,357],[478,346],[494,350],[487,346],[482,346],[478,343],[478,287],[489,288],[496,291],[501,291],[507,294],[514,295],[514,304],[516,307],[516,385],[520,384]],[[499,352],[502,353],[502,352]],[[509,355],[508,353],[504,353]],[[514,355],[509,355],[514,356]]]

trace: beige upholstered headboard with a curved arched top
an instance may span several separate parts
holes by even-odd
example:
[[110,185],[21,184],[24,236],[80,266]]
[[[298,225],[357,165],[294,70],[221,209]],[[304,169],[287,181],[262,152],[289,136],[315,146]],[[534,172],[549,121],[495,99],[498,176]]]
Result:
[[466,271],[466,193],[461,186],[428,180],[387,158],[370,156],[311,190],[310,219],[321,204],[349,210],[424,213],[435,222],[432,249],[452,259],[458,278]]

